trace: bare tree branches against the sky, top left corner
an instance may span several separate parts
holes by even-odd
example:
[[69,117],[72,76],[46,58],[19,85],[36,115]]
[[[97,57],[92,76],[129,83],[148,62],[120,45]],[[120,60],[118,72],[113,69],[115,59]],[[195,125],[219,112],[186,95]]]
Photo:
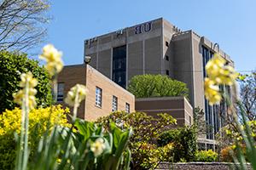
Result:
[[32,48],[45,37],[47,0],[1,0],[0,50]]

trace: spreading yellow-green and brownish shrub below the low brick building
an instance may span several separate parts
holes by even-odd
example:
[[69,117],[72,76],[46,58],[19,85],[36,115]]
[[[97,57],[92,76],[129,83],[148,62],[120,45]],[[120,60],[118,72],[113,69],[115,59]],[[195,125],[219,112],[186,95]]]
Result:
[[160,113],[157,114],[157,117],[153,117],[143,112],[125,113],[125,111],[113,112],[96,121],[105,128],[109,127],[109,122],[116,122],[122,128],[132,127],[134,135],[131,137],[131,143],[140,141],[154,143],[154,139],[157,139],[160,132],[170,129],[176,124],[176,120],[166,113]]

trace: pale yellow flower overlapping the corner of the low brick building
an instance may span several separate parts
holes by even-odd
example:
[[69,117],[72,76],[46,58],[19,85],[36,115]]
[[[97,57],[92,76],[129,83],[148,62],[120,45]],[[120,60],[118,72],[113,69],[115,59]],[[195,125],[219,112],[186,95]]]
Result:
[[[87,88],[82,84],[76,84],[70,91],[67,93],[67,98],[65,102],[69,106],[74,106],[75,102],[79,105],[79,103],[85,99],[85,95],[87,94]],[[76,100],[77,98],[77,100]]]

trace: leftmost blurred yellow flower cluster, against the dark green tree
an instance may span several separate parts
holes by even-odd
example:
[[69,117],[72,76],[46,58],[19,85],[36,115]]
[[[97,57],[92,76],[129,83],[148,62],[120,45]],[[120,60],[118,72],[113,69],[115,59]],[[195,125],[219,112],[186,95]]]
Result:
[[38,80],[36,78],[32,77],[32,73],[28,72],[28,73],[22,73],[20,75],[20,91],[18,91],[17,93],[13,94],[14,97],[14,101],[15,103],[22,105],[22,101],[23,99],[26,99],[26,88],[28,90],[28,107],[29,109],[33,109],[36,105],[36,98],[35,95],[37,94],[37,90],[35,89],[35,87],[38,84]]

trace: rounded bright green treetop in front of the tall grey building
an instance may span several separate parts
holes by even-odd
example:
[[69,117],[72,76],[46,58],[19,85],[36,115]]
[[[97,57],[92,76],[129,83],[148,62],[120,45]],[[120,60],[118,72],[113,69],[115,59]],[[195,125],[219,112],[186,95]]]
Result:
[[139,75],[131,78],[128,91],[137,98],[163,96],[189,96],[184,82],[162,75]]

